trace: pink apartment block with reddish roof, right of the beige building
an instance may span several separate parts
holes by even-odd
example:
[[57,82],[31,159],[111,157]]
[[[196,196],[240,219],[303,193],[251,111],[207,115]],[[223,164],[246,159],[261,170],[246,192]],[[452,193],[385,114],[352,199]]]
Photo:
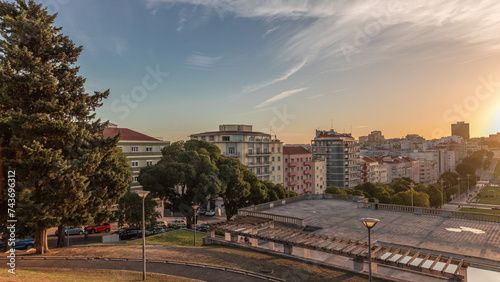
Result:
[[312,153],[304,147],[283,147],[283,186],[299,195],[313,193]]

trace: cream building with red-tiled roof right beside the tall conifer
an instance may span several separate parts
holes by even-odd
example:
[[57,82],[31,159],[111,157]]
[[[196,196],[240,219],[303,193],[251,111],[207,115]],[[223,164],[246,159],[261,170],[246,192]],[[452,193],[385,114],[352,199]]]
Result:
[[141,168],[156,164],[162,157],[161,150],[170,145],[170,142],[128,128],[120,128],[111,123],[104,129],[105,137],[114,137],[118,134],[120,134],[118,147],[122,149],[132,167],[130,189],[132,191],[141,190],[142,186],[138,182]]

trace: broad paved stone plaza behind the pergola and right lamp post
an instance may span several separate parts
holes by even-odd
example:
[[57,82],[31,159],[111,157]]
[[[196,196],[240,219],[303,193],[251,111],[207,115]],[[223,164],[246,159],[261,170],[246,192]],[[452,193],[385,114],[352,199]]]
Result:
[[432,252],[459,254],[500,263],[500,224],[465,219],[357,208],[339,200],[305,200],[263,211],[302,218],[306,225],[322,227],[314,234],[356,241],[367,240],[366,227],[359,221],[374,217],[372,242],[422,248]]

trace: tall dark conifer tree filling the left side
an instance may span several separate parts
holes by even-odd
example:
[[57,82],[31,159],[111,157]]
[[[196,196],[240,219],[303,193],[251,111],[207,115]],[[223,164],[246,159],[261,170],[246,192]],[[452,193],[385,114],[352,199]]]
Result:
[[103,216],[130,181],[118,139],[103,138],[107,124],[95,119],[109,93],[85,92],[82,47],[55,18],[33,1],[0,2],[3,173],[16,171],[16,219],[35,228],[37,253],[48,252],[48,228]]

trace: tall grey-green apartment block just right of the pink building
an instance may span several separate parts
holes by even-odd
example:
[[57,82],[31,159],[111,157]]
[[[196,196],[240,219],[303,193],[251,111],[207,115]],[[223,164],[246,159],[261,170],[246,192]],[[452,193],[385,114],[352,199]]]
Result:
[[352,188],[360,183],[359,144],[351,134],[316,130],[311,141],[314,159],[326,160],[326,184]]

